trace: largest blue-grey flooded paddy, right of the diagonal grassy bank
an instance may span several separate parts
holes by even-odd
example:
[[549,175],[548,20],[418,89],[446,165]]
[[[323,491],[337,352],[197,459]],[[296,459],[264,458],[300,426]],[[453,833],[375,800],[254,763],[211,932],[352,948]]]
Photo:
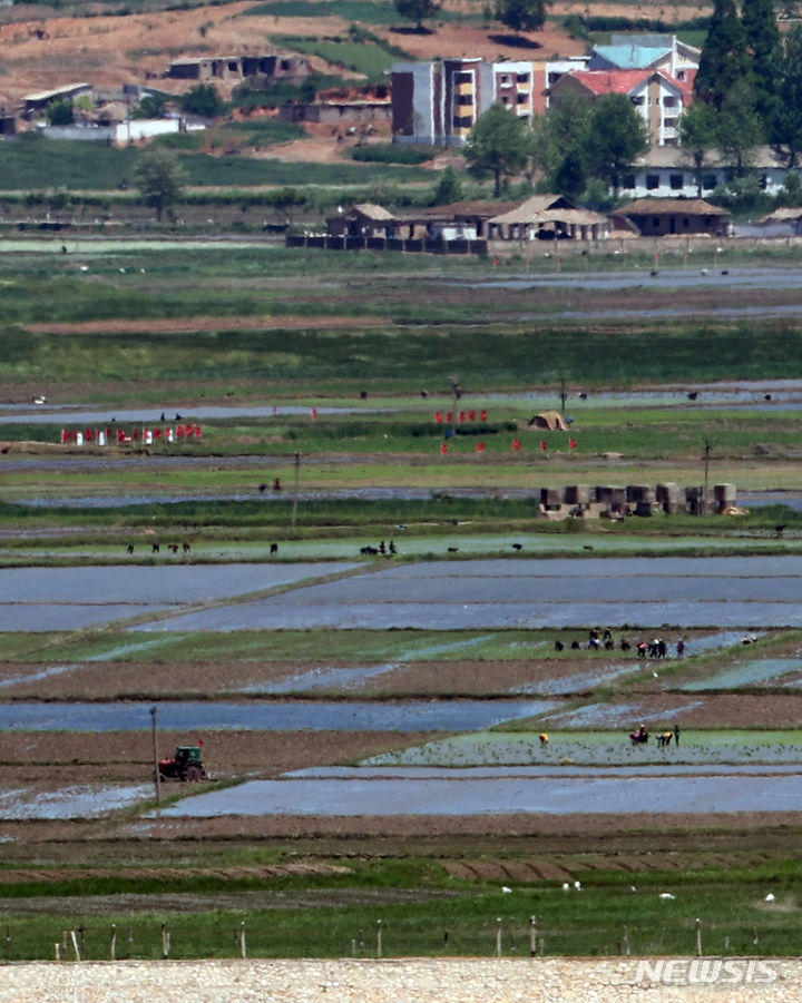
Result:
[[454,630],[588,623],[799,627],[799,560],[665,557],[399,564],[254,602],[167,617],[138,629]]

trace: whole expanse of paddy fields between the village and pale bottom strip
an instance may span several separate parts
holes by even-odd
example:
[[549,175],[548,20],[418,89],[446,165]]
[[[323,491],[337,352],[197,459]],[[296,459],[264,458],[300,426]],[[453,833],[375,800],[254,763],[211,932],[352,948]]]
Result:
[[[59,247],[0,242],[7,960],[68,918],[96,957],[110,923],[127,957],[162,923],[231,955],[242,922],[336,956],[380,920],[390,954],[489,954],[499,916],[511,954],[535,914],[545,953],[625,924],[682,953],[695,917],[795,952],[792,248],[649,282],[643,253]],[[668,482],[737,496],[540,504]],[[184,745],[209,777],[156,787]]]

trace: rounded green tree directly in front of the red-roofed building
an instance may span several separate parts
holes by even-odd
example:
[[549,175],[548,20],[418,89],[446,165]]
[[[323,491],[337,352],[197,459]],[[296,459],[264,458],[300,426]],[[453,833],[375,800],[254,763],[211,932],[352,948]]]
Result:
[[648,149],[646,126],[623,94],[603,94],[594,102],[586,138],[588,174],[604,178],[615,190],[620,175]]

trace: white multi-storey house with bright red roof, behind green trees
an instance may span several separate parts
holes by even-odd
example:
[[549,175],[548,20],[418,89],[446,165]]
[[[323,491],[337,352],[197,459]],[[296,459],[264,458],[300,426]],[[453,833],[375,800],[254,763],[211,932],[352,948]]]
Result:
[[678,146],[677,125],[693,98],[693,80],[679,81],[659,70],[575,70],[554,85],[551,105],[567,94],[590,100],[603,94],[627,95],[648,129],[652,146]]

